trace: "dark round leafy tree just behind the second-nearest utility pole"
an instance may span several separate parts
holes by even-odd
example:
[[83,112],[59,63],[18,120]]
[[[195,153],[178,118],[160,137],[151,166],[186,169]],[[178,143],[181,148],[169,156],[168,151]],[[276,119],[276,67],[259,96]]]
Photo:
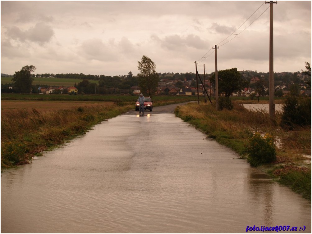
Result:
[[[215,84],[216,74],[211,76],[210,82]],[[237,68],[218,71],[218,91],[224,93],[226,97],[230,97],[232,93],[238,92],[245,88],[247,83],[242,79]]]

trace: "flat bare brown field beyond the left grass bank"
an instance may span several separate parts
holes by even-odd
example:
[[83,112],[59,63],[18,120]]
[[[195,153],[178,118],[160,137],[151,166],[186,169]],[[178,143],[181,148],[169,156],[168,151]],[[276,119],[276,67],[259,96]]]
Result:
[[9,110],[35,108],[38,112],[49,112],[61,109],[76,109],[77,107],[110,106],[114,102],[83,102],[83,101],[1,101],[1,115]]

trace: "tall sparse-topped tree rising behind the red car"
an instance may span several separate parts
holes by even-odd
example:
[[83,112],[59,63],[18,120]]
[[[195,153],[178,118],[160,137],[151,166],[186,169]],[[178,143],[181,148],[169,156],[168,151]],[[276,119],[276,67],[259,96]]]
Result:
[[159,74],[156,72],[156,65],[145,55],[138,63],[138,69],[140,71],[138,78],[141,92],[146,92],[147,95],[154,96],[159,80]]

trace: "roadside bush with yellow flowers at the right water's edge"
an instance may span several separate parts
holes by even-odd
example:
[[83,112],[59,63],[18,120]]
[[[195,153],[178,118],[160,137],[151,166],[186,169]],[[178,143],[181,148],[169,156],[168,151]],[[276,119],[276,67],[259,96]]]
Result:
[[274,162],[276,160],[274,138],[270,134],[261,136],[256,132],[246,147],[246,153],[247,160],[253,167]]

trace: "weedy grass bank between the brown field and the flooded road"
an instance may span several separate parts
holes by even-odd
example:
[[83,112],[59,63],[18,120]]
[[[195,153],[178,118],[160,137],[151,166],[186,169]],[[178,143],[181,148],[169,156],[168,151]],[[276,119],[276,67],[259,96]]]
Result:
[[84,134],[131,107],[77,107],[42,113],[34,108],[9,110],[1,115],[1,170],[29,163],[43,150]]

